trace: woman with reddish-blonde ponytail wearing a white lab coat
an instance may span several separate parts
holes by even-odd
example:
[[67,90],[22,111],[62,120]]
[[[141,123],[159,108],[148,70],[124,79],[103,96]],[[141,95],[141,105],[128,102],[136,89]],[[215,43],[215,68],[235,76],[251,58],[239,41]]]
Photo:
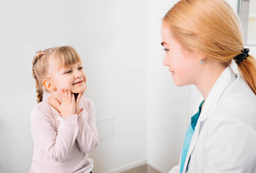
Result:
[[179,1],[163,17],[161,44],[174,83],[195,84],[204,98],[171,173],[256,172],[256,61],[229,4]]

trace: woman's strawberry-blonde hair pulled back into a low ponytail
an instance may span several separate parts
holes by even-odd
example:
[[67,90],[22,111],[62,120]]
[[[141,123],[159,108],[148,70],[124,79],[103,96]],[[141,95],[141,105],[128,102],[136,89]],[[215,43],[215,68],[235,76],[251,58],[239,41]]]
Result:
[[[171,37],[187,50],[202,53],[229,66],[244,50],[239,21],[224,0],[181,0],[163,17]],[[237,63],[239,71],[256,94],[256,60],[248,56]]]

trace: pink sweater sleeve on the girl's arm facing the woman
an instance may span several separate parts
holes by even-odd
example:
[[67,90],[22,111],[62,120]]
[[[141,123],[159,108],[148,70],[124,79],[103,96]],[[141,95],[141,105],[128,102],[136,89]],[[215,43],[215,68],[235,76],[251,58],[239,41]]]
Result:
[[79,130],[77,134],[77,146],[83,153],[89,153],[98,145],[98,131],[95,122],[95,107],[88,100],[87,107],[83,107],[78,116]]

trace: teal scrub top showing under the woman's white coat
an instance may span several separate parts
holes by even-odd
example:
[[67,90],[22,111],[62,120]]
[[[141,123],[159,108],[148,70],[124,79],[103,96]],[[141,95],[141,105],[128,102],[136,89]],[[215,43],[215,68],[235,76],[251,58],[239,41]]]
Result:
[[[203,102],[204,102],[204,100],[202,101],[202,103]],[[186,157],[187,157],[187,151],[189,151],[189,145],[190,145],[192,136],[193,136],[194,131],[195,131],[195,126],[197,125],[197,120],[200,116],[202,103],[199,106],[198,112],[191,117],[191,123],[189,124],[189,128],[187,128],[187,132],[185,134],[184,144],[183,144],[183,148],[182,148],[182,156],[181,156],[181,167],[179,169],[179,173],[182,173],[182,171],[184,169],[184,163],[185,163],[185,160],[186,160]],[[185,169],[187,169],[187,168],[185,168]]]

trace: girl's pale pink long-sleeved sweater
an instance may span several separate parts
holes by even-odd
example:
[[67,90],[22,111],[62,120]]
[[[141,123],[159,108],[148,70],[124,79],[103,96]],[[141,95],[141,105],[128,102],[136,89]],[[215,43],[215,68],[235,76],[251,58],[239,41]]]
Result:
[[80,115],[60,117],[48,99],[30,113],[34,141],[30,173],[85,172],[93,169],[88,153],[98,145],[95,107],[90,99],[81,98]]

